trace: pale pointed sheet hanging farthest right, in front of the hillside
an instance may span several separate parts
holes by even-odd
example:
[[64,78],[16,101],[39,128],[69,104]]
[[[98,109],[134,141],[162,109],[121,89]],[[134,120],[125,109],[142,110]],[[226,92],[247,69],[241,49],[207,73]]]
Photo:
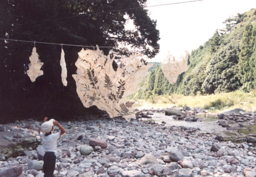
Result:
[[184,51],[184,53],[178,57],[168,53],[166,59],[161,63],[161,69],[170,83],[175,83],[178,76],[188,69],[187,59],[188,51]]

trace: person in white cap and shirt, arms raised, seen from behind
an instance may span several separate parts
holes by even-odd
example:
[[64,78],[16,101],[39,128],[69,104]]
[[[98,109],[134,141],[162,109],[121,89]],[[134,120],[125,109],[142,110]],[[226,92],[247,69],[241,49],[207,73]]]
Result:
[[[39,135],[45,151],[43,171],[45,177],[52,177],[56,163],[57,140],[61,135],[65,134],[66,130],[58,123],[58,121],[54,119],[47,121],[47,119],[48,117],[45,117],[44,123],[42,123],[39,128]],[[60,132],[52,134],[53,125],[58,126]]]

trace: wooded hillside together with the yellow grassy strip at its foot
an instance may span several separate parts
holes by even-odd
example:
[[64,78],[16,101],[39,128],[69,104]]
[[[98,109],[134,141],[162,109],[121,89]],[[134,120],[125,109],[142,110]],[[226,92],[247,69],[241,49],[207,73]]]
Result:
[[152,106],[255,110],[256,9],[223,23],[224,29],[216,30],[204,45],[191,51],[188,70],[175,84],[168,82],[160,63],[154,62],[140,90],[130,98]]

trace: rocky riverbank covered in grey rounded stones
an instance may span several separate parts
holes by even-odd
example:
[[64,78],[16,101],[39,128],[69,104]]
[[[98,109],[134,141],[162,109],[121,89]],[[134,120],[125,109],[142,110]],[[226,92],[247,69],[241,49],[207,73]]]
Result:
[[[199,128],[140,121],[150,116],[146,112],[131,122],[101,117],[59,121],[67,132],[58,141],[55,176],[256,176],[251,143],[223,142]],[[0,176],[43,176],[44,153],[40,146],[34,149],[41,123],[30,119],[1,126],[8,146],[0,151]],[[13,152],[16,157],[10,157]]]

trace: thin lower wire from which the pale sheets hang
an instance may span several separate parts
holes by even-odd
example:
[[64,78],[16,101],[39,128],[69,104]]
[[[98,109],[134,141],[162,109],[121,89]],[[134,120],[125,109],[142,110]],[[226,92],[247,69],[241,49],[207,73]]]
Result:
[[[0,40],[10,40],[10,41],[16,41],[16,42],[30,42],[30,43],[34,43],[34,47],[35,47],[35,43],[43,43],[43,44],[47,44],[47,45],[60,45],[62,46],[75,46],[75,47],[85,47],[85,48],[95,48],[95,46],[81,46],[81,45],[70,45],[70,44],[65,44],[65,43],[51,43],[51,42],[38,42],[38,41],[29,41],[29,40],[17,40],[17,39],[6,39],[6,38],[0,38]],[[203,46],[203,47],[224,47],[224,46],[230,46],[230,47],[237,47],[237,46],[256,46],[256,42],[253,45],[207,45],[207,46]],[[115,47],[111,47],[111,46],[98,46],[99,48],[115,48]],[[160,48],[160,47],[152,47],[152,48]]]

